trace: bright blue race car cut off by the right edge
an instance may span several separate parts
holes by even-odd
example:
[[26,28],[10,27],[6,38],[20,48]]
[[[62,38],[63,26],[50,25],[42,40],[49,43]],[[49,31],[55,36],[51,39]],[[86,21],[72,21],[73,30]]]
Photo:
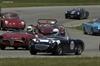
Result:
[[100,34],[100,18],[82,24],[84,34]]

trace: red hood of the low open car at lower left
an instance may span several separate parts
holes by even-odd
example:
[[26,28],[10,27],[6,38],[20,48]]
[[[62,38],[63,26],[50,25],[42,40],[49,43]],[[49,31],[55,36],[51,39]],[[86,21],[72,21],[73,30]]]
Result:
[[10,39],[10,38],[16,38],[16,39],[21,39],[21,38],[31,38],[32,35],[28,33],[4,33],[2,34],[3,38],[5,39]]

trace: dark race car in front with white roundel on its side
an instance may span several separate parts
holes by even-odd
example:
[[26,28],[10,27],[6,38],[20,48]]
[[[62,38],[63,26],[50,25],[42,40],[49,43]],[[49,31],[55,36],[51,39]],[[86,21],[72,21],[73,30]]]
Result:
[[82,40],[68,39],[61,36],[34,38],[29,46],[31,55],[38,52],[52,53],[53,55],[63,55],[65,53],[81,55],[83,51],[84,42]]

